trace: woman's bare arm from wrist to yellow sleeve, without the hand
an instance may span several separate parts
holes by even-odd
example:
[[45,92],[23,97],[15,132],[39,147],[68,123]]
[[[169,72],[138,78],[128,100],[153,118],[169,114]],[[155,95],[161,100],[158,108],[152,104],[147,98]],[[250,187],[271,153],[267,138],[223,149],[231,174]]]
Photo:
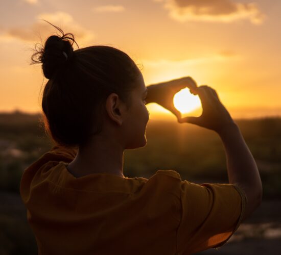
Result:
[[227,157],[227,172],[230,184],[237,184],[246,193],[249,207],[247,217],[260,205],[262,198],[262,182],[255,160],[239,130],[233,123],[219,134]]

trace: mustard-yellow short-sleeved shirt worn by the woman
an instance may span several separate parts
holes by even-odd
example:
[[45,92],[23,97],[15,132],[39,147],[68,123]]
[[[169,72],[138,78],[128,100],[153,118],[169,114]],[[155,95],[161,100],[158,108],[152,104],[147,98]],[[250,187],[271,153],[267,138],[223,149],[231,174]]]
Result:
[[221,246],[240,224],[246,197],[235,185],[198,185],[174,170],[76,178],[66,169],[76,153],[54,146],[22,174],[39,255],[191,254]]

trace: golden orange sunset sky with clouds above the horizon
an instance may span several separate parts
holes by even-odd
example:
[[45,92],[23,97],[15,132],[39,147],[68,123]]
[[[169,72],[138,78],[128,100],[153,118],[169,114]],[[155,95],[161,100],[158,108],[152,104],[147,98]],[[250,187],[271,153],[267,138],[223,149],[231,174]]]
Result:
[[[233,117],[281,115],[279,0],[0,1],[0,111],[40,111],[48,80],[30,57],[40,36],[57,33],[46,19],[80,48],[123,50],[147,86],[191,76],[215,88]],[[156,104],[148,110],[174,117]]]

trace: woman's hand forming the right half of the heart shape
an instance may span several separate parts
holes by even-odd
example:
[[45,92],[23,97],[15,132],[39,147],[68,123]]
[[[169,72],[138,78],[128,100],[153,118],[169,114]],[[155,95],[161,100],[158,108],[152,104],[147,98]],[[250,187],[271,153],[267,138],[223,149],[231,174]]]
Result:
[[199,95],[203,111],[199,117],[180,118],[180,123],[196,124],[206,129],[214,130],[218,134],[227,129],[229,125],[235,124],[226,108],[222,105],[216,90],[202,85],[190,89],[190,91],[194,95]]

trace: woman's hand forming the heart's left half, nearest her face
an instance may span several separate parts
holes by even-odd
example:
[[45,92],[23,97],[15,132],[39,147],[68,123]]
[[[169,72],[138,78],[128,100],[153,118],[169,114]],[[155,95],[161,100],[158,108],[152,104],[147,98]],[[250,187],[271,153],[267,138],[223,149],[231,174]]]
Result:
[[172,112],[179,120],[181,113],[175,108],[173,98],[178,91],[185,87],[188,87],[192,92],[192,89],[197,87],[197,84],[191,77],[183,77],[149,85],[147,86],[147,104],[156,103]]

